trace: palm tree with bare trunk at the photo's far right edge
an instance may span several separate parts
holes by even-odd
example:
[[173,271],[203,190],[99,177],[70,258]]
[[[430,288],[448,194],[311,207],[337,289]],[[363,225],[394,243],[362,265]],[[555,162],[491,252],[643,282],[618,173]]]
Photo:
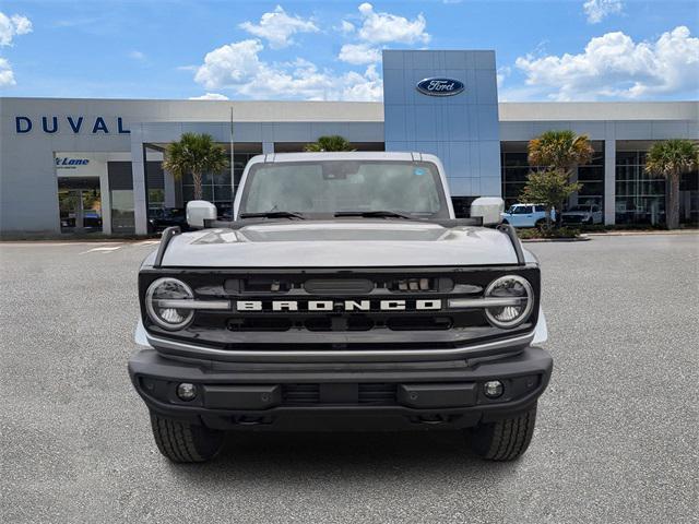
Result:
[[645,172],[666,180],[667,205],[665,211],[668,229],[679,227],[679,179],[699,166],[699,146],[689,140],[656,142],[645,155]]

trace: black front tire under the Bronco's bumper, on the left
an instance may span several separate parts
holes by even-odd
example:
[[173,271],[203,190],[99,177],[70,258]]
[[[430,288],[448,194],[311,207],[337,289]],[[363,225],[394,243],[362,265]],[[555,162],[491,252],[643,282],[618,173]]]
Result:
[[164,418],[153,412],[151,426],[157,449],[173,462],[206,462],[223,445],[221,431]]

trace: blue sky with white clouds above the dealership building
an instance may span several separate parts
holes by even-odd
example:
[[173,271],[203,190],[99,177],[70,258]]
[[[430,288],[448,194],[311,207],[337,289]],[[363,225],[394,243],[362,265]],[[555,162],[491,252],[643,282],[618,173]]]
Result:
[[0,0],[0,96],[380,102],[381,49],[494,49],[501,102],[699,98],[696,0]]

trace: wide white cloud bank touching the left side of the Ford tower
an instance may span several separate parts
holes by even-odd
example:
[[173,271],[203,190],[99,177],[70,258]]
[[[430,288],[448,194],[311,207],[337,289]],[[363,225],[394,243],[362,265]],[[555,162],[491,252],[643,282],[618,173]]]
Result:
[[319,70],[304,59],[266,62],[259,40],[222,46],[204,57],[194,80],[208,90],[230,90],[253,99],[379,100],[382,83],[376,67],[364,73]]

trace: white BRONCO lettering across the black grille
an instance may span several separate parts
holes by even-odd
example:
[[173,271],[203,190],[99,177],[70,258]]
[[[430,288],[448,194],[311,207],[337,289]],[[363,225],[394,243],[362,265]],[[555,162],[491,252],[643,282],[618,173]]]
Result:
[[[270,303],[270,302],[268,302]],[[263,311],[262,300],[238,300],[237,311]],[[272,300],[272,311],[425,311],[441,309],[441,300]]]

